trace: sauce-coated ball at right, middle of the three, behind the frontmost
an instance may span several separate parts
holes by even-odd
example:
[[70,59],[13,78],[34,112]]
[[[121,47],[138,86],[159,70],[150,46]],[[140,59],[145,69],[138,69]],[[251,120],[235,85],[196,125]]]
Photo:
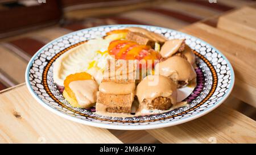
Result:
[[177,83],[177,87],[186,86],[190,81],[196,78],[196,72],[193,66],[180,56],[172,56],[155,66],[155,70],[162,76],[171,78]]

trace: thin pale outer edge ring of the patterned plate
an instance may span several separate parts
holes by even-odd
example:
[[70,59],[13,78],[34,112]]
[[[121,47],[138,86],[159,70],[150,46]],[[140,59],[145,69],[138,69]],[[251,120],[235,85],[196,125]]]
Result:
[[[33,61],[35,60],[36,56],[39,55],[39,53],[41,53],[43,51],[44,48],[48,47],[48,45],[54,43],[55,41],[63,38],[63,37],[66,37],[66,36],[69,36],[69,35],[73,35],[73,34],[76,34],[77,32],[81,32],[81,31],[88,31],[88,30],[92,30],[93,28],[104,28],[104,27],[150,27],[150,28],[159,28],[159,29],[166,29],[166,30],[170,30],[170,31],[175,31],[175,32],[179,32],[180,34],[183,34],[185,36],[189,36],[189,37],[193,37],[197,40],[199,40],[201,43],[204,43],[205,45],[208,45],[209,47],[211,47],[212,49],[214,49],[218,54],[221,55],[222,58],[224,58],[224,60],[227,62],[229,68],[230,68],[230,76],[231,76],[231,82],[230,82],[230,86],[228,88],[228,91],[224,94],[224,96],[221,97],[220,100],[217,100],[217,103],[215,103],[213,106],[210,106],[208,108],[205,108],[203,111],[200,111],[199,113],[195,114],[195,115],[192,115],[192,116],[189,116],[187,118],[183,118],[183,119],[179,119],[179,120],[172,120],[170,122],[167,122],[167,123],[162,123],[162,124],[147,124],[147,125],[118,125],[118,124],[104,124],[104,123],[97,123],[97,122],[90,122],[90,121],[86,121],[86,120],[83,120],[83,119],[79,119],[79,118],[76,118],[74,116],[70,116],[70,115],[67,115],[63,112],[60,112],[59,110],[56,110],[55,108],[52,108],[50,107],[48,104],[46,104],[42,99],[40,99],[38,97],[38,95],[36,95],[35,91],[32,89],[32,86],[30,84],[30,81],[29,81],[29,73],[30,73],[30,68],[33,64]],[[226,98],[228,98],[228,96],[230,95],[230,93],[232,92],[233,90],[233,87],[234,87],[234,70],[232,68],[232,65],[230,64],[229,60],[220,52],[218,51],[218,49],[216,49],[215,47],[213,47],[212,45],[208,44],[207,42],[199,39],[198,37],[195,37],[195,36],[192,36],[192,35],[188,35],[187,33],[183,33],[183,32],[180,32],[180,31],[176,31],[176,30],[172,30],[170,28],[164,28],[164,27],[157,27],[157,26],[147,26],[147,25],[138,25],[138,24],[115,24],[115,25],[105,25],[105,26],[98,26],[98,27],[91,27],[91,28],[85,28],[85,29],[82,29],[82,30],[79,30],[79,31],[74,31],[74,32],[71,32],[71,33],[68,33],[64,36],[60,36],[52,41],[50,41],[48,44],[44,45],[42,48],[40,48],[38,50],[38,52],[35,53],[34,56],[32,56],[31,60],[28,62],[28,65],[27,65],[27,68],[26,68],[26,73],[25,73],[25,78],[26,78],[26,85],[28,87],[28,90],[30,91],[30,93],[32,94],[32,96],[36,99],[36,101],[38,101],[43,107],[47,108],[47,110],[65,118],[65,119],[69,119],[69,120],[72,120],[74,122],[78,122],[78,123],[82,123],[82,124],[85,124],[85,125],[91,125],[91,126],[94,126],[94,127],[100,127],[100,128],[109,128],[109,129],[129,129],[129,130],[138,130],[138,129],[154,129],[154,128],[163,128],[163,127],[169,127],[169,126],[172,126],[172,125],[177,125],[177,124],[181,124],[181,123],[185,123],[185,122],[188,122],[190,120],[193,120],[193,119],[196,119],[196,118],[199,118],[200,116],[203,116],[207,113],[209,113],[210,111],[214,110],[215,108],[217,108],[218,106],[220,106],[221,103],[223,103]]]

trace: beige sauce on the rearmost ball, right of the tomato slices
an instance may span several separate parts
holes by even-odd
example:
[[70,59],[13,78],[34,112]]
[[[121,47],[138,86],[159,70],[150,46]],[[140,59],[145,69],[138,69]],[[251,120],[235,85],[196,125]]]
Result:
[[160,49],[160,55],[162,57],[170,57],[174,55],[180,48],[184,39],[172,39],[166,41]]

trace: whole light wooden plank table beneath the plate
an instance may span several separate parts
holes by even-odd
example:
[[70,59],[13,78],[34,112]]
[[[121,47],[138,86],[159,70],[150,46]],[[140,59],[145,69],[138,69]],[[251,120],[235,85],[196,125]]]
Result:
[[[212,44],[233,65],[232,95],[256,107],[256,10],[222,15],[217,27],[195,23],[183,32]],[[226,100],[230,102],[230,100]],[[0,143],[256,143],[256,122],[222,104],[209,114],[174,127],[117,131],[90,127],[49,112],[26,85],[0,92]]]

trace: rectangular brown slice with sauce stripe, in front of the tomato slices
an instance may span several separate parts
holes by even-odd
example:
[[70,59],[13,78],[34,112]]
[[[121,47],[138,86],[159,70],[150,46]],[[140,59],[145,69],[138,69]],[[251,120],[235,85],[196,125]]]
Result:
[[[118,72],[119,68],[126,70],[126,64],[129,64],[127,60],[116,60],[113,61],[113,64],[109,61],[109,65],[105,69],[107,73],[104,73],[104,78],[97,93],[96,112],[102,114],[106,112],[131,113],[131,105],[135,94],[136,70]],[[111,65],[114,65],[114,69]],[[133,74],[133,77],[128,78],[129,74]]]

